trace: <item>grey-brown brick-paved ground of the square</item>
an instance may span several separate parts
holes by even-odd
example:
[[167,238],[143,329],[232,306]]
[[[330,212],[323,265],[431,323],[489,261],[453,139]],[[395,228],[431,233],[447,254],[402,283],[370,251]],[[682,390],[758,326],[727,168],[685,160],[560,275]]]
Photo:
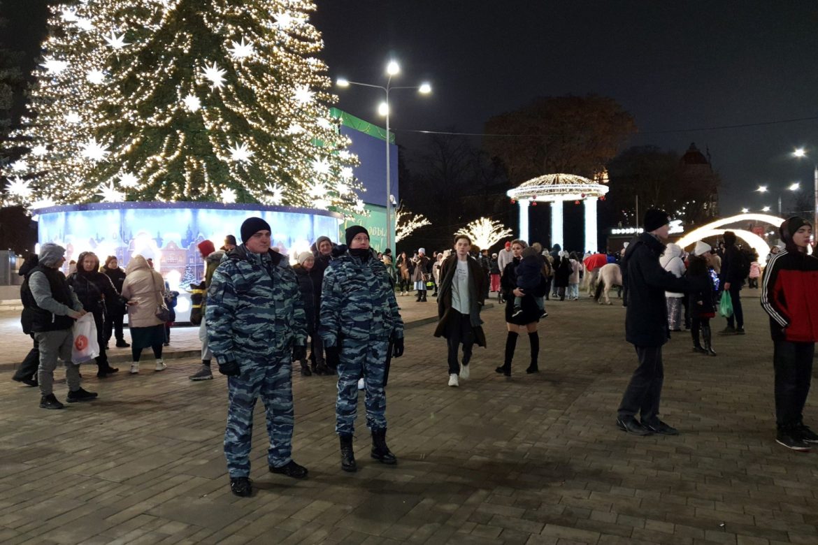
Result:
[[663,418],[678,437],[613,425],[635,366],[620,306],[551,302],[543,372],[522,373],[521,339],[509,379],[494,373],[501,309],[487,310],[489,348],[458,389],[433,326],[411,329],[388,387],[398,466],[368,458],[362,428],[360,471],[340,471],[335,384],[295,377],[294,455],[309,478],[267,472],[258,412],[253,498],[229,492],[225,380],[189,382],[196,361],[89,378],[100,400],[63,411],[38,409],[6,369],[0,542],[818,543],[818,458],[772,440],[771,343],[757,299],[746,307],[748,335],[718,338],[717,358],[692,355],[685,335],[667,346]]

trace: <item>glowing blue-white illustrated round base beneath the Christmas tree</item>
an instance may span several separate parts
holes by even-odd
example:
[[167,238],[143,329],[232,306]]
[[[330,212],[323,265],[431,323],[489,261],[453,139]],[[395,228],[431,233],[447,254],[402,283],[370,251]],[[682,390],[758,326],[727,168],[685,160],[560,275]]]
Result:
[[209,239],[219,248],[227,235],[241,243],[241,223],[254,216],[270,224],[272,246],[292,263],[319,236],[336,240],[343,221],[336,212],[248,203],[89,203],[39,209],[38,242],[65,247],[66,271],[81,252],[96,253],[101,263],[116,256],[123,268],[137,254],[151,258],[179,292],[177,321],[184,322],[190,317],[188,289],[205,277],[197,244]]

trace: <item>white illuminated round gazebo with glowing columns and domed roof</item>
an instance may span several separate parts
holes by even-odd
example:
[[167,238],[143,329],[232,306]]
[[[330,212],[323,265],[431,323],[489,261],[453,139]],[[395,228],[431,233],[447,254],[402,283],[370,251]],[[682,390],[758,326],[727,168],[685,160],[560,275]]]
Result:
[[563,202],[582,201],[585,205],[585,248],[596,252],[596,201],[605,199],[608,186],[574,174],[537,176],[509,190],[512,203],[519,204],[519,238],[528,240],[528,205],[551,203],[551,246],[563,241]]

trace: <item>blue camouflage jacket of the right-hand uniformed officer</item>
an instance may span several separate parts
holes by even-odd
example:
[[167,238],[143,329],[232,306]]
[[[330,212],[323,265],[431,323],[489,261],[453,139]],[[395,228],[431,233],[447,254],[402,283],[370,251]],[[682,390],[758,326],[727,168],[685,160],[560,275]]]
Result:
[[403,320],[392,282],[381,261],[344,253],[330,262],[321,286],[318,333],[326,346],[339,335],[353,339],[403,337]]

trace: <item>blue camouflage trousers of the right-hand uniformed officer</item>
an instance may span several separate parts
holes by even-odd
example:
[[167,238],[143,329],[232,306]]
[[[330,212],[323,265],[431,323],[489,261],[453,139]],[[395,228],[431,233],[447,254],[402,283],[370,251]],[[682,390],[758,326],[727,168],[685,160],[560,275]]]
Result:
[[384,366],[389,341],[344,339],[338,362],[338,402],[335,404],[335,431],[352,434],[357,415],[357,382],[364,379],[366,427],[386,427]]

